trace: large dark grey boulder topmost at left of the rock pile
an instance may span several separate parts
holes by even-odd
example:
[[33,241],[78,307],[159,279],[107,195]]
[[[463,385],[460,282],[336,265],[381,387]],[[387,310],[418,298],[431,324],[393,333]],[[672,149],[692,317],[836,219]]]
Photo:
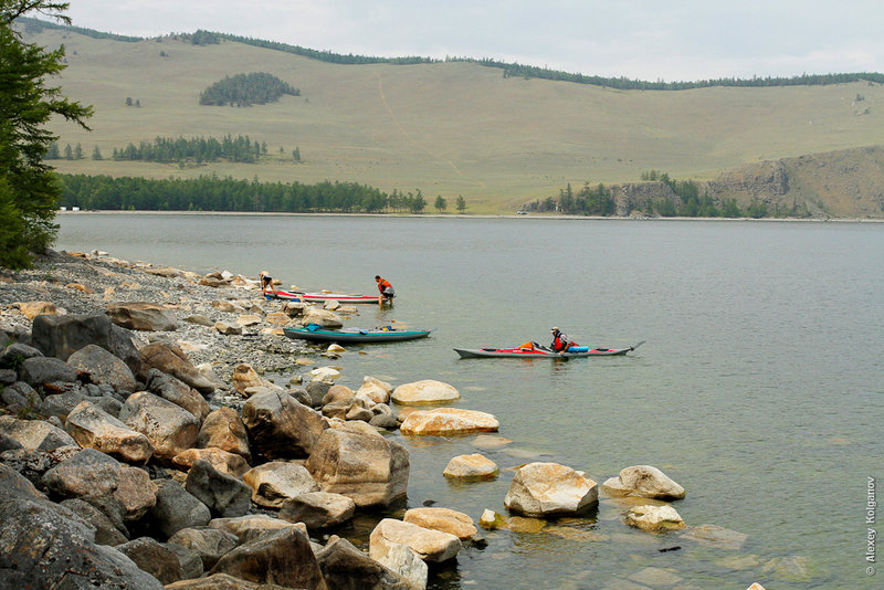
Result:
[[49,357],[67,360],[86,345],[98,345],[125,362],[138,375],[141,358],[131,333],[110,322],[106,314],[50,316],[34,318],[31,329],[33,345]]

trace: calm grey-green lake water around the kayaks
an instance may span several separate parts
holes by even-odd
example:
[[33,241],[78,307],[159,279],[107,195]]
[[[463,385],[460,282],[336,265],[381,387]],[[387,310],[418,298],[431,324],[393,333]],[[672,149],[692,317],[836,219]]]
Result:
[[[425,340],[334,361],[339,382],[439,379],[513,441],[392,436],[411,453],[408,506],[506,514],[516,465],[552,461],[601,483],[629,465],[687,491],[688,526],[748,535],[737,550],[627,527],[602,496],[585,518],[486,533],[433,588],[882,588],[866,573],[869,478],[884,418],[884,224],[80,213],[59,249],[196,271],[262,270],[285,286],[376,293],[350,325],[435,328]],[[453,347],[548,344],[559,326],[625,357],[459,359]],[[482,452],[493,482],[454,484]],[[361,526],[371,526],[362,521]],[[357,523],[355,536],[362,535]],[[874,528],[874,525],[871,525]],[[660,549],[680,547],[677,550]],[[661,570],[664,570],[661,572]],[[677,581],[673,576],[681,578]]]

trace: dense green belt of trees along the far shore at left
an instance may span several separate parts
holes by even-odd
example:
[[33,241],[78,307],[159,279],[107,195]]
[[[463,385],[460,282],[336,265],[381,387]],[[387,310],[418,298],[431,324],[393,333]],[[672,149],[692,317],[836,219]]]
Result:
[[110,211],[241,211],[288,213],[421,213],[427,200],[415,192],[382,192],[356,182],[259,182],[201,176],[197,179],[112,178],[56,175],[60,204]]

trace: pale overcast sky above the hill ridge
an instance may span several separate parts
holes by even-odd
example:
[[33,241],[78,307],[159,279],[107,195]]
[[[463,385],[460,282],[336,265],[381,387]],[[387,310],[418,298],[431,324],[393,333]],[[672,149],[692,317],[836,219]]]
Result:
[[881,0],[70,0],[73,24],[645,81],[884,72]]

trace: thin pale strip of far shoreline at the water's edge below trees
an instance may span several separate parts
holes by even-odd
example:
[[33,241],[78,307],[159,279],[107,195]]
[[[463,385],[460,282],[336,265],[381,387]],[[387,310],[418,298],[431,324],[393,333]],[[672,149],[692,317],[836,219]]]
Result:
[[594,221],[749,221],[749,222],[799,222],[799,223],[884,223],[882,219],[861,218],[685,218],[685,217],[604,217],[604,215],[524,215],[512,213],[297,213],[287,211],[148,211],[148,210],[87,210],[56,211],[56,215],[249,215],[249,217],[320,217],[320,218],[373,218],[373,219],[535,219],[535,220],[594,220]]

